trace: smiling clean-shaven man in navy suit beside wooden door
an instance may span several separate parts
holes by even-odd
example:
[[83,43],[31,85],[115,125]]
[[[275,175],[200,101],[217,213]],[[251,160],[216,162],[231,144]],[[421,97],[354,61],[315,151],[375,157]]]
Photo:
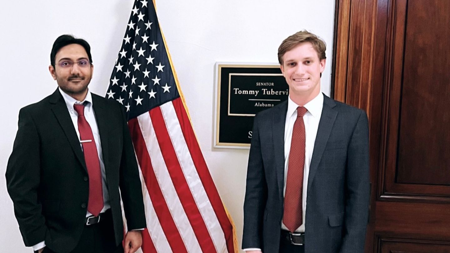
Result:
[[369,214],[364,111],[320,92],[325,43],[279,46],[289,98],[254,119],[242,247],[247,253],[362,253]]

